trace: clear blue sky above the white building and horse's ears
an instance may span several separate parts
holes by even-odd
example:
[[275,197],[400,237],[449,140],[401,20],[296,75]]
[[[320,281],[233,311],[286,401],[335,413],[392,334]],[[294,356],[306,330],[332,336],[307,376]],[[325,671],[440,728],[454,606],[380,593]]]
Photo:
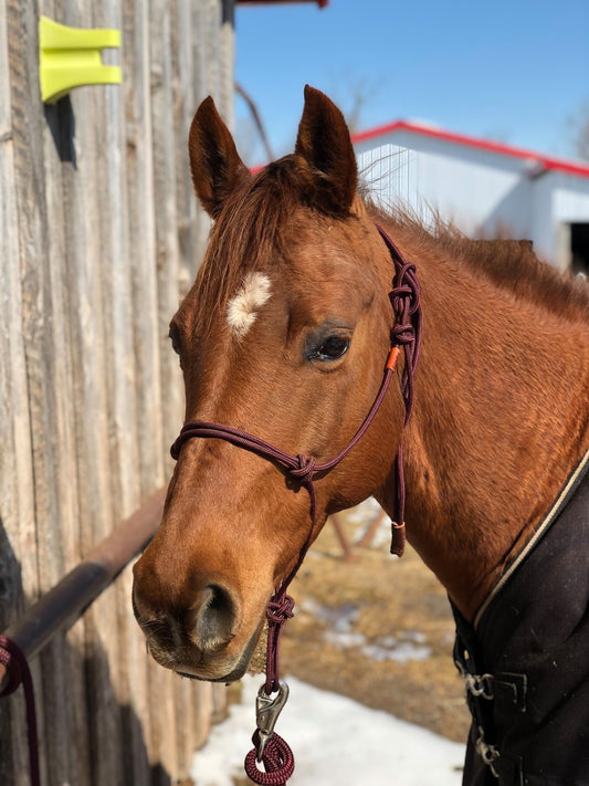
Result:
[[[359,128],[419,119],[445,130],[572,156],[570,118],[589,113],[589,0],[329,0],[238,6],[235,78],[275,155],[292,150],[309,83]],[[264,154],[236,98],[249,164]]]

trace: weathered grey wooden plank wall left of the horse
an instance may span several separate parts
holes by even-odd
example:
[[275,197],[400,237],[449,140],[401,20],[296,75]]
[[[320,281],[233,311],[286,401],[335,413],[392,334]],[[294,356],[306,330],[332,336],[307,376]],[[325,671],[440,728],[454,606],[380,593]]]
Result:
[[[0,630],[170,473],[182,385],[168,322],[208,231],[186,139],[209,93],[231,123],[232,11],[0,0]],[[119,29],[122,85],[43,106],[41,13]],[[31,663],[44,784],[178,783],[222,708],[149,661],[129,597],[127,568]],[[19,693],[0,701],[0,782],[14,786]]]

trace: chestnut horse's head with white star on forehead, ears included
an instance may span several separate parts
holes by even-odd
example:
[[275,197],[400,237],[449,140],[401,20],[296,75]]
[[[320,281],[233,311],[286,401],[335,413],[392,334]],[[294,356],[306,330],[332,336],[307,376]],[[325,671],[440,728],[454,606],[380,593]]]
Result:
[[[393,322],[393,270],[357,191],[344,117],[306,87],[294,154],[252,175],[207,98],[189,154],[213,226],[170,325],[186,421],[320,464],[369,410]],[[278,461],[225,440],[183,442],[164,520],[134,569],[135,611],[156,660],[199,679],[240,678],[304,544],[330,513],[389,483],[402,420],[392,386],[361,442],[317,478],[314,517],[304,482]]]

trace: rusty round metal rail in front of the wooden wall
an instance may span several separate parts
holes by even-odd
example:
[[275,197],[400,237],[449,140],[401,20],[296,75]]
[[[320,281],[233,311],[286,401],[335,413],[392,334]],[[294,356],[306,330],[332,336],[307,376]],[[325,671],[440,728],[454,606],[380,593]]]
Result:
[[[133,515],[90,551],[80,565],[3,631],[3,636],[12,639],[27,659],[38,654],[60,630],[70,628],[147,545],[161,521],[166,491],[164,488],[149,496]],[[6,669],[0,663],[0,689],[4,678]]]

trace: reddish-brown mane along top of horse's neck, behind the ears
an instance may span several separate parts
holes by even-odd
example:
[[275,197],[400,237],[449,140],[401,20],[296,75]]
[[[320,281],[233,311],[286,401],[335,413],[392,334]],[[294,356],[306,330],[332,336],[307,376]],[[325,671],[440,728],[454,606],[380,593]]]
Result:
[[[460,266],[484,277],[522,301],[535,303],[543,310],[572,322],[589,322],[589,285],[582,276],[557,270],[538,259],[529,240],[475,240],[463,234],[454,224],[434,217],[428,228],[409,210],[383,211],[369,200],[367,207],[377,220],[392,221],[392,226],[414,238],[421,248],[442,251]],[[416,260],[419,264],[419,260]]]

